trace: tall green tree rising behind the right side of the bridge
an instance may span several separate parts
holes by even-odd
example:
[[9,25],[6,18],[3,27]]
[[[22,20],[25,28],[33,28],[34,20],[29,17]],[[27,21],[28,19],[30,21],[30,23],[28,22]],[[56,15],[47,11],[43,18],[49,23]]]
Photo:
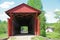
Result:
[[36,8],[41,12],[41,14],[39,15],[39,18],[40,18],[40,35],[42,36],[46,36],[46,33],[45,33],[45,16],[44,16],[44,11],[43,11],[43,7],[42,7],[42,3],[41,3],[41,0],[29,0],[28,3],[27,3],[29,6],[32,6],[33,8]]

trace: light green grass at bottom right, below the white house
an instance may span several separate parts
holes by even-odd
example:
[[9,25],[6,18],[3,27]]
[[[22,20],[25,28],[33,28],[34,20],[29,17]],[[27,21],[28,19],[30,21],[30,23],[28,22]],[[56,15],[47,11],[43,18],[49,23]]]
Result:
[[32,40],[60,40],[60,34],[56,32],[48,32],[46,33],[46,37],[36,36],[33,37]]

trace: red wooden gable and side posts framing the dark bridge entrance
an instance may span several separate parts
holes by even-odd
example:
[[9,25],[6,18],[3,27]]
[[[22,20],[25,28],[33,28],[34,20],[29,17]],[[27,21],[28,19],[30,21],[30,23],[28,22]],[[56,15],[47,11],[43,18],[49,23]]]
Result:
[[39,23],[40,20],[38,18],[38,15],[41,13],[41,11],[23,3],[17,7],[14,7],[12,9],[6,11],[6,14],[8,16],[10,16],[10,19],[8,19],[8,36],[13,36],[13,23],[12,23],[12,21],[14,18],[14,13],[22,14],[22,17],[23,17],[23,15],[25,15],[25,13],[28,13],[26,15],[34,13],[34,15],[35,15],[34,16],[34,34],[35,35],[40,34],[40,23]]

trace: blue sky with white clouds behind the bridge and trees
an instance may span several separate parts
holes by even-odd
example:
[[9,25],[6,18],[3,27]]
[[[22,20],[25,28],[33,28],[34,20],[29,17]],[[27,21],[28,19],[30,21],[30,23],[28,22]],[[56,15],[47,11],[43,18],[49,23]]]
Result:
[[[0,0],[0,20],[7,21],[7,18],[9,18],[5,11],[18,6],[22,3],[27,3],[28,0]],[[60,0],[41,0],[43,10],[46,12],[46,22],[47,23],[55,23],[58,19],[54,18],[55,11],[60,10]]]

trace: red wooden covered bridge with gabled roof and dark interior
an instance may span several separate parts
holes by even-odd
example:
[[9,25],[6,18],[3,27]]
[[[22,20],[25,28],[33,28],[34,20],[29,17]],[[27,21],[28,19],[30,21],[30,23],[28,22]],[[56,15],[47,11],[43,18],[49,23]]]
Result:
[[[10,17],[8,18],[8,36],[39,35],[40,23],[38,16],[40,13],[41,11],[24,3],[6,11],[6,14]],[[28,27],[28,33],[21,33],[22,26]]]

